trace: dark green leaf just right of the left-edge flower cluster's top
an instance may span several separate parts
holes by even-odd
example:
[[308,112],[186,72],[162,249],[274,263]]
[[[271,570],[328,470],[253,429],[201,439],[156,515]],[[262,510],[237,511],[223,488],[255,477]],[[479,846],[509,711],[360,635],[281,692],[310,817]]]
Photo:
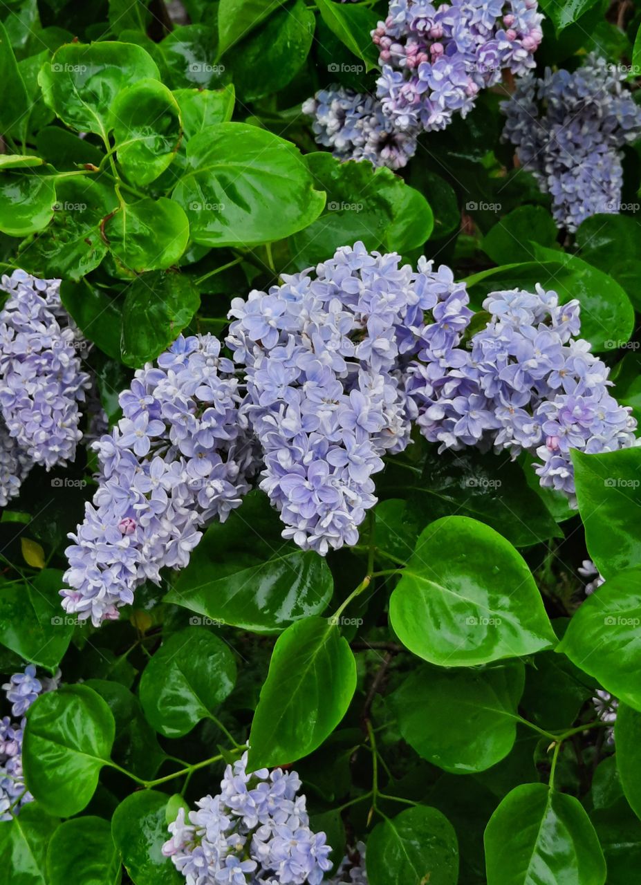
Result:
[[[135,285],[135,283],[134,283]],[[120,359],[120,302],[95,283],[63,280],[60,300],[83,335],[97,344],[107,356]]]

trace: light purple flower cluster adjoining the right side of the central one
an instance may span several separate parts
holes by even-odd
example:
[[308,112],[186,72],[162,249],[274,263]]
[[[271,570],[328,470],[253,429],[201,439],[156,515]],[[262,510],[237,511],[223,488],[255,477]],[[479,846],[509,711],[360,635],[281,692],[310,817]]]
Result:
[[555,292],[514,289],[483,302],[487,327],[460,350],[459,365],[413,369],[408,392],[422,433],[444,448],[528,450],[541,485],[574,495],[570,450],[613,451],[636,444],[630,409],[608,393],[609,369],[575,339],[579,304]]

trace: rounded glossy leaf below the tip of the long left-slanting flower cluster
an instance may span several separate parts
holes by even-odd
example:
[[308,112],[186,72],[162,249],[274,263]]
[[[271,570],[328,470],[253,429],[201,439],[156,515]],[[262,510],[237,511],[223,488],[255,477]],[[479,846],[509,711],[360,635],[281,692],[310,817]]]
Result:
[[235,682],[228,645],[203,627],[188,627],[171,635],[144,668],[144,715],[161,735],[181,737],[225,700]]

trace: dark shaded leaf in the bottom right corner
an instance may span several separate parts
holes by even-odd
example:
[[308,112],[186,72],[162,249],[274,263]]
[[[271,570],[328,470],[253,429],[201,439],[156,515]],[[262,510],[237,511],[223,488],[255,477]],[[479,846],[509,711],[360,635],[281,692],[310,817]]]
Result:
[[629,885],[641,865],[641,822],[625,799],[591,813],[607,865],[608,885]]

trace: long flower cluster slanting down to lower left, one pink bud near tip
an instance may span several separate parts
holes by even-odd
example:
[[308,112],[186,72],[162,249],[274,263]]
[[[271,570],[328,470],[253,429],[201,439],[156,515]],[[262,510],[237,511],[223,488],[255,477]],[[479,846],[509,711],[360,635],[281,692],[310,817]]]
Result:
[[253,458],[233,371],[212,335],[181,335],[120,394],[122,419],[93,443],[99,488],[66,550],[67,612],[117,618],[143,581],[187,565],[206,521],[241,503]]

